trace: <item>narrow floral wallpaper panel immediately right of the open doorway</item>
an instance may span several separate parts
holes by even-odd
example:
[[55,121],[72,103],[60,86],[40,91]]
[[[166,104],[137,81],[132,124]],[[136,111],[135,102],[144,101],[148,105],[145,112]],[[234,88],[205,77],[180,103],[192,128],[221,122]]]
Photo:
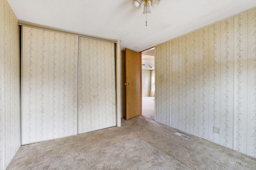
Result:
[[170,41],[155,47],[155,121],[170,125]]

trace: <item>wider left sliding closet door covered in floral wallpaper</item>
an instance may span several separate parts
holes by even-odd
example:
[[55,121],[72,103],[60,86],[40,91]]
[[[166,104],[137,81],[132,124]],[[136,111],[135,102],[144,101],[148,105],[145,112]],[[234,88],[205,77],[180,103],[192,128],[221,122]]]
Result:
[[77,134],[78,36],[23,27],[22,145]]

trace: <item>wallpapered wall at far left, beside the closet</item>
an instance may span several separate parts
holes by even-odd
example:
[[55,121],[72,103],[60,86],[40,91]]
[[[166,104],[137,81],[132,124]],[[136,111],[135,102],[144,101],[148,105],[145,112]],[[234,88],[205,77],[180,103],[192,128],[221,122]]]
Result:
[[0,11],[0,169],[6,169],[20,147],[20,38],[6,0]]

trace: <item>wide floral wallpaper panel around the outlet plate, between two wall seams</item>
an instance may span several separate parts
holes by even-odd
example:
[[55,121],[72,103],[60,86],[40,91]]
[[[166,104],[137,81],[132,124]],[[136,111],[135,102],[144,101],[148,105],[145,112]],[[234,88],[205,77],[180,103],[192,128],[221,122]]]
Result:
[[[171,126],[233,148],[233,18],[171,40]],[[222,135],[213,133],[213,126]]]

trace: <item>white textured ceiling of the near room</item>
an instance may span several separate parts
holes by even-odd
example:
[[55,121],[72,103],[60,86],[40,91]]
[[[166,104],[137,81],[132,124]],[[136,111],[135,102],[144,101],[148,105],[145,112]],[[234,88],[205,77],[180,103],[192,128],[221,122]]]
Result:
[[18,20],[121,40],[143,51],[256,6],[256,0],[161,0],[148,14],[132,0],[8,0]]

